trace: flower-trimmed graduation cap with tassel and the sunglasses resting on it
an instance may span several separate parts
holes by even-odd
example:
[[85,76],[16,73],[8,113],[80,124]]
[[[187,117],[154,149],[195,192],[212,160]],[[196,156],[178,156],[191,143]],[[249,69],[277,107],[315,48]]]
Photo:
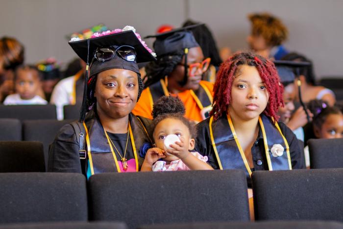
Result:
[[156,54],[132,26],[94,33],[89,39],[72,38],[69,45],[87,63],[80,122],[86,115],[87,83],[92,77],[109,69],[131,70],[140,77],[137,63],[156,60]]

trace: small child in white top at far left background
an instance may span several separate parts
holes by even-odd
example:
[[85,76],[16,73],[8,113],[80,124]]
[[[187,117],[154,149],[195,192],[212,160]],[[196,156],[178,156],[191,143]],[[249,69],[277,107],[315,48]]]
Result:
[[38,95],[42,91],[41,78],[38,69],[34,66],[19,66],[14,73],[15,92],[6,97],[4,105],[32,105],[47,104],[48,102]]

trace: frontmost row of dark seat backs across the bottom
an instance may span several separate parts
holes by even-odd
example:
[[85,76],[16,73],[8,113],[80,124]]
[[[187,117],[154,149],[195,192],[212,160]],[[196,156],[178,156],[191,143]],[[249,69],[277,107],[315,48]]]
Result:
[[[249,221],[242,170],[0,174],[0,223]],[[343,169],[252,174],[255,220],[343,221]]]

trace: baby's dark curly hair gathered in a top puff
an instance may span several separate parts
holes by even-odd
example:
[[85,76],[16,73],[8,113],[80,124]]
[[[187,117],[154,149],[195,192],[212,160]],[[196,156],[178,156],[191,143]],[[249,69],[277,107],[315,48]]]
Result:
[[154,103],[151,112],[154,129],[157,124],[164,119],[177,119],[188,127],[190,135],[194,138],[196,134],[195,127],[187,118],[184,117],[185,113],[185,106],[178,97],[162,96]]

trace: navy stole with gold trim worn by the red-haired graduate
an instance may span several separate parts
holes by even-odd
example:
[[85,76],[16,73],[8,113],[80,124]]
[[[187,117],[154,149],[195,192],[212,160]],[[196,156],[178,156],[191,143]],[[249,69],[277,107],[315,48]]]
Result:
[[[220,125],[216,127],[216,124]],[[259,117],[259,126],[263,134],[269,170],[291,170],[292,164],[289,145],[277,122],[273,124],[270,118],[262,114]],[[238,141],[230,115],[227,114],[226,118],[222,116],[215,123],[213,123],[213,116],[211,116],[209,130],[212,147],[220,169],[243,169],[251,176],[250,167]],[[270,148],[275,144],[280,144],[286,149],[286,152],[282,156],[272,156]]]

